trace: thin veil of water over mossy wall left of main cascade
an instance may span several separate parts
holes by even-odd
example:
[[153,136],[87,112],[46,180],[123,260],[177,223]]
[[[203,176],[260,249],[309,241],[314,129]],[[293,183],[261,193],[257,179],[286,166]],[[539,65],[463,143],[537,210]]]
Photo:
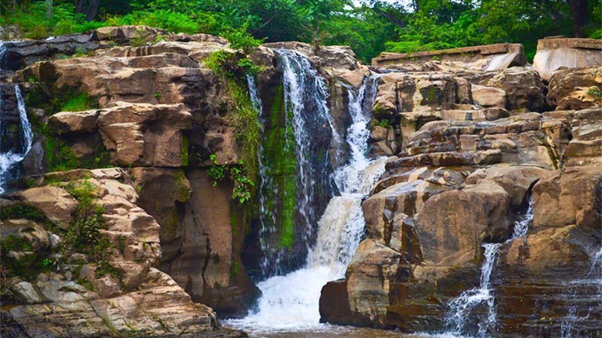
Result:
[[[326,81],[302,54],[287,49],[275,51],[281,60],[285,114],[282,134],[275,138],[284,140],[281,144],[284,150],[259,148],[258,237],[262,278],[298,268],[309,245],[315,244],[315,225],[323,206],[334,195],[327,152],[331,140],[335,144],[340,142],[326,103]],[[255,84],[249,84],[249,89],[253,101],[259,102]],[[262,109],[261,103],[256,109]],[[264,120],[270,118],[275,116]],[[272,131],[278,128],[271,125],[275,121],[267,122]],[[268,158],[273,153],[281,158]],[[293,156],[283,161],[287,153]],[[283,177],[285,174],[288,176]]]

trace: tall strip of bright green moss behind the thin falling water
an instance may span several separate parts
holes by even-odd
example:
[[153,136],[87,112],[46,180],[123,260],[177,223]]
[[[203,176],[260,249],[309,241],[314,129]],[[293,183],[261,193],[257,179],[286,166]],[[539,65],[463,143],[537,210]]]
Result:
[[276,191],[267,191],[268,210],[275,210],[278,228],[278,242],[282,248],[289,248],[294,242],[294,217],[297,194],[297,162],[295,155],[296,141],[292,124],[292,114],[286,120],[284,88],[282,85],[273,91],[274,98],[270,106],[270,116],[264,138],[265,162],[270,166]]

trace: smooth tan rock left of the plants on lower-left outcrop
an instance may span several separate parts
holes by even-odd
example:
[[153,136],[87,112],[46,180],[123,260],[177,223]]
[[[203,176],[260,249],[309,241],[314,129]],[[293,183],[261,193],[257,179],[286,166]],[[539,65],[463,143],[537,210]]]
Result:
[[77,201],[62,188],[43,186],[27,189],[19,194],[25,204],[37,207],[46,217],[65,229],[72,220],[72,212],[78,205]]

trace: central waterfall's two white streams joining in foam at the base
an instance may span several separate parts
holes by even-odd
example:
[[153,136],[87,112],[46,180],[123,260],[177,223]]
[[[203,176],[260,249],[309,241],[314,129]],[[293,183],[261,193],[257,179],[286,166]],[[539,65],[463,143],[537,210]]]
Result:
[[[300,104],[302,102],[300,96],[307,95],[308,90],[311,93],[312,88],[322,88],[323,83],[315,76],[308,76],[306,67],[309,67],[309,63],[305,57],[300,57],[291,51],[278,50],[278,52],[283,55],[283,60],[286,60],[284,61],[285,93],[288,94],[285,94],[285,101],[293,107],[291,111],[293,120],[297,117],[293,128],[298,130],[305,123],[300,117],[308,114],[306,110],[308,106]],[[305,72],[305,75],[298,76],[300,72]],[[297,76],[293,76],[295,74]],[[373,82],[373,78],[367,79],[358,91],[347,87],[348,109],[352,124],[347,129],[345,141],[352,150],[351,158],[333,174],[340,195],[331,198],[319,220],[315,220],[318,228],[317,239],[315,245],[308,244],[309,252],[305,266],[287,275],[276,275],[259,282],[257,286],[261,289],[262,297],[255,312],[244,319],[230,320],[229,324],[255,332],[312,330],[321,325],[318,304],[321,288],[330,280],[344,277],[347,265],[365,229],[361,208],[362,198],[370,192],[371,187],[385,171],[386,158],[366,157],[370,134],[367,130],[370,110],[364,111],[362,103],[373,99],[371,93],[366,94],[367,85]],[[305,91],[300,91],[301,88],[305,88]],[[322,89],[317,93],[322,93]],[[318,108],[318,114],[327,113],[326,105],[322,105],[322,102],[319,100],[315,103],[317,107],[314,108]],[[297,143],[308,143],[312,135],[297,133],[297,130],[295,131]],[[305,145],[299,147],[301,150],[306,149]],[[297,152],[298,155],[302,153],[303,151]],[[299,162],[302,161],[306,159],[299,156]],[[303,187],[305,189],[303,194],[311,198],[311,194],[315,193],[312,190],[312,179],[309,171],[302,167],[298,174],[302,177],[301,182],[308,184]],[[302,201],[300,206],[307,206],[308,203],[311,201]],[[310,219],[309,214],[302,218],[303,221]],[[311,228],[311,223],[309,225]]]

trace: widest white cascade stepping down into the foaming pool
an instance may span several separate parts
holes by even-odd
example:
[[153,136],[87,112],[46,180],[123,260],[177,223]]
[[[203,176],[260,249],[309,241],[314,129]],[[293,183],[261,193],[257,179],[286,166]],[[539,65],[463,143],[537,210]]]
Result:
[[[294,80],[288,81],[286,86],[296,85]],[[365,84],[357,93],[349,88],[352,125],[347,129],[346,141],[351,149],[351,159],[334,175],[341,195],[329,201],[318,221],[317,243],[309,250],[305,267],[258,283],[262,297],[257,310],[244,319],[226,323],[255,334],[312,331],[325,327],[326,324],[319,323],[321,289],[328,281],[344,277],[364,233],[361,200],[385,170],[386,158],[374,160],[366,157],[369,117],[361,108]],[[287,100],[294,102],[297,98],[291,96]],[[296,114],[303,114],[303,111]],[[303,138],[297,140],[303,141]]]

